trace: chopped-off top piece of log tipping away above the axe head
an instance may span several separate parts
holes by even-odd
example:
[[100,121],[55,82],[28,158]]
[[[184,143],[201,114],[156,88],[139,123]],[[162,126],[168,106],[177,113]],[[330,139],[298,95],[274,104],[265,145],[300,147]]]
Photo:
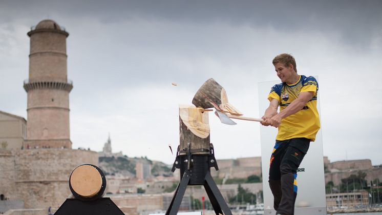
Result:
[[196,107],[216,108],[232,115],[243,115],[233,105],[229,104],[225,89],[214,79],[208,79],[196,92],[193,104]]

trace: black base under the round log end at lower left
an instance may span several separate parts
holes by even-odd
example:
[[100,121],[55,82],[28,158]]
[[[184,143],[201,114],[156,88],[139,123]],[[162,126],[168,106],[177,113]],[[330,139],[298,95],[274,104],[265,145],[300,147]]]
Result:
[[110,198],[100,198],[90,202],[67,199],[54,215],[124,215]]

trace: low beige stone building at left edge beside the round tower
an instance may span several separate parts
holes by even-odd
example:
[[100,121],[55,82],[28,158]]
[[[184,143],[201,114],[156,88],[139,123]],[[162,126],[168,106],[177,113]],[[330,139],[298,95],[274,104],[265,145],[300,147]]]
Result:
[[0,111],[0,150],[21,149],[27,138],[27,121],[21,116]]

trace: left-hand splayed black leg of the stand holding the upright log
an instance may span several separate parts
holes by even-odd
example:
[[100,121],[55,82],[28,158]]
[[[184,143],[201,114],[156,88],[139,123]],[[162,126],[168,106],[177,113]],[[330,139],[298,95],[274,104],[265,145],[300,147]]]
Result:
[[168,209],[165,215],[176,215],[178,213],[189,179],[190,179],[189,173],[185,171],[183,174],[182,180],[180,180],[179,185],[174,193],[173,200],[171,200],[171,203],[168,206]]

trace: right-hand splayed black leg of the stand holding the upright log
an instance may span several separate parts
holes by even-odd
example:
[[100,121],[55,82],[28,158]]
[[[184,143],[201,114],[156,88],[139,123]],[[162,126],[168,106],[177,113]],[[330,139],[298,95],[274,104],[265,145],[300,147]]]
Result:
[[214,207],[215,213],[218,214],[222,213],[223,211],[225,215],[232,215],[231,210],[229,209],[227,203],[224,201],[224,198],[220,193],[218,186],[216,186],[216,183],[209,172],[205,177],[205,181],[207,182],[207,184],[204,184],[204,188],[207,192],[209,201],[211,201],[211,204]]

